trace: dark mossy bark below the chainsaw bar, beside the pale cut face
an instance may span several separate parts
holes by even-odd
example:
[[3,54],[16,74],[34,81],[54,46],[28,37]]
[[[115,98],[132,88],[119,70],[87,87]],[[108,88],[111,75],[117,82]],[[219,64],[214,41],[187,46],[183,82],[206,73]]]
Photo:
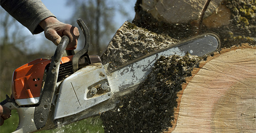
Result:
[[138,90],[120,99],[114,110],[101,115],[105,132],[159,133],[171,127],[177,92],[201,58],[161,57]]

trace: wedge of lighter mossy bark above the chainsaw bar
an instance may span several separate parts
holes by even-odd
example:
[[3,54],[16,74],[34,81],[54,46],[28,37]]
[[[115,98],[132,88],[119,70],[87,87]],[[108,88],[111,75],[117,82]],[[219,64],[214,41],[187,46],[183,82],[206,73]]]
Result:
[[177,42],[167,35],[158,35],[125,22],[101,55],[102,63],[110,63],[108,68],[114,70],[133,59]]

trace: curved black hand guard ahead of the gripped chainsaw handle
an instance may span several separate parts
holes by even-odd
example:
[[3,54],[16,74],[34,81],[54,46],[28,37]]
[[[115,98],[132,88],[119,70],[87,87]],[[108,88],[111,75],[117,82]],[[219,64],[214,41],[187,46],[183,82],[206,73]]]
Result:
[[83,49],[77,52],[72,58],[73,72],[76,72],[78,70],[78,61],[81,57],[87,56],[89,59],[88,50],[89,50],[89,44],[90,44],[90,33],[88,30],[88,27],[85,25],[85,23],[81,19],[77,19],[77,24],[79,25],[79,27],[81,28],[85,36],[85,45]]

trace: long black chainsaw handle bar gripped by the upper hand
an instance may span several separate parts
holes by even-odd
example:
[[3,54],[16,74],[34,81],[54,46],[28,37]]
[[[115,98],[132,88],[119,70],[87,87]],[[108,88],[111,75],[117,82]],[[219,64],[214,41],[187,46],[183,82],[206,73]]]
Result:
[[59,67],[61,58],[65,52],[65,49],[69,43],[69,37],[64,35],[61,37],[61,42],[57,46],[57,49],[53,55],[52,61],[49,66],[48,74],[45,79],[45,85],[41,90],[41,96],[39,105],[35,107],[34,123],[37,129],[41,129],[45,126],[49,116],[53,95],[56,88]]

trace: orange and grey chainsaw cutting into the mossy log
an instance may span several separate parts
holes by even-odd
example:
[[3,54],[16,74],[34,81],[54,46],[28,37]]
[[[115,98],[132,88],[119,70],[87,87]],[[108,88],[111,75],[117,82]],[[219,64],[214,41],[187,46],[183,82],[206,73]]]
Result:
[[77,23],[85,36],[81,51],[65,51],[69,38],[63,36],[52,59],[36,59],[13,72],[12,96],[6,95],[0,103],[19,114],[13,133],[52,129],[111,110],[118,97],[136,90],[146,79],[160,56],[204,56],[220,48],[218,35],[206,33],[111,70],[98,55],[88,55],[89,30],[81,19]]

